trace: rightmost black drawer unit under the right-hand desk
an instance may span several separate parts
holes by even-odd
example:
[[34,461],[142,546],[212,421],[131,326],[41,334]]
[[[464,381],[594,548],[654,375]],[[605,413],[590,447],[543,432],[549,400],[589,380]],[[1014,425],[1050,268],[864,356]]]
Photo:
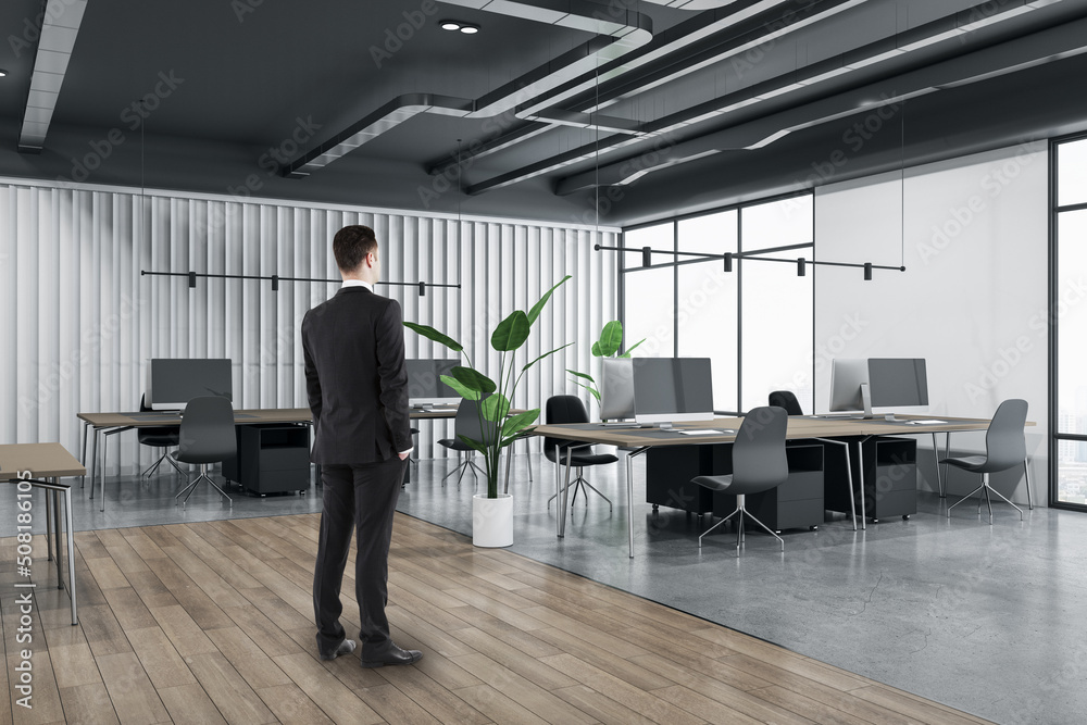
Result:
[[[909,517],[917,513],[917,441],[913,438],[875,436],[861,443],[864,459],[864,513],[873,521]],[[827,447],[826,508],[849,513],[846,459],[840,446]],[[835,450],[837,449],[837,450]],[[860,461],[850,442],[853,487],[860,486]],[[857,499],[857,513],[861,501]]]

